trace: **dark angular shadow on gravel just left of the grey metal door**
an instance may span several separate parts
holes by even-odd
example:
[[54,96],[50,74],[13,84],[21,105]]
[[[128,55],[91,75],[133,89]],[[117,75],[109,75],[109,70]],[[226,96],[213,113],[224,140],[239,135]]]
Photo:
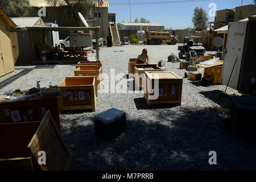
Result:
[[212,100],[216,104],[229,109],[229,102],[231,99],[231,96],[229,94],[226,94],[225,92],[222,92],[221,90],[211,90],[211,91],[205,91],[205,92],[199,92],[206,98],[209,98],[209,100]]

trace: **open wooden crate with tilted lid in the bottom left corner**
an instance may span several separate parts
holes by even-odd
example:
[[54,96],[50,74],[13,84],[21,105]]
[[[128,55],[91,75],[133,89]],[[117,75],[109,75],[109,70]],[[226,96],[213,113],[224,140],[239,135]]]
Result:
[[[51,112],[42,121],[0,124],[0,170],[68,170],[70,154]],[[46,152],[46,165],[38,163]]]

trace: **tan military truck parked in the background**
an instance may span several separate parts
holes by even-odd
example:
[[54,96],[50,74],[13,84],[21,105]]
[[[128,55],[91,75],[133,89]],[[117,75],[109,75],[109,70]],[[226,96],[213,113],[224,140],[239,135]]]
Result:
[[170,32],[161,32],[161,31],[147,31],[145,30],[147,44],[150,45],[161,45],[169,44],[175,45],[178,43],[177,36],[171,35]]

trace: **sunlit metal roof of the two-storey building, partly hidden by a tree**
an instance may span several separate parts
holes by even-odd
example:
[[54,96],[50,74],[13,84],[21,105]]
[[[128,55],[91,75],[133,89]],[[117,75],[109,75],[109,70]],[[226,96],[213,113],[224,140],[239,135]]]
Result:
[[[58,0],[58,1],[52,1],[52,2],[49,2],[47,0],[28,0],[30,2],[30,6],[32,7],[38,7],[38,6],[44,6],[44,7],[52,7],[52,6],[55,6],[55,7],[60,7],[60,6],[67,6],[67,3],[64,1],[64,0]],[[55,3],[56,2],[56,5]],[[95,3],[94,3],[95,5]],[[96,7],[99,7],[98,6],[98,1],[96,1]],[[102,5],[102,7],[110,7],[110,3],[108,0],[104,0],[104,3]]]

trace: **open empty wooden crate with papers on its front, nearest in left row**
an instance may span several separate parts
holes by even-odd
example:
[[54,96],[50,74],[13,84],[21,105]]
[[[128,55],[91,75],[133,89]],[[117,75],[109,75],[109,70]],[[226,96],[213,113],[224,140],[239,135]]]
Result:
[[96,78],[95,77],[66,77],[59,85],[60,111],[96,109]]

